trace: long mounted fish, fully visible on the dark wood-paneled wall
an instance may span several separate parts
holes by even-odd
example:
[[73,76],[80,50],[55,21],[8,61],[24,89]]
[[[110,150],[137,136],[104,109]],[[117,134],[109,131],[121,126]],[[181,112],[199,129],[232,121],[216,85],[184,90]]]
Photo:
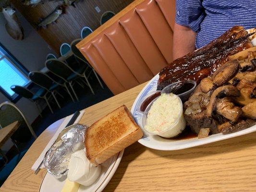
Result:
[[58,6],[47,17],[45,17],[44,19],[39,19],[39,24],[37,24],[37,28],[43,27],[44,29],[46,29],[47,25],[56,24],[56,20],[64,12],[65,12],[65,7],[64,6]]

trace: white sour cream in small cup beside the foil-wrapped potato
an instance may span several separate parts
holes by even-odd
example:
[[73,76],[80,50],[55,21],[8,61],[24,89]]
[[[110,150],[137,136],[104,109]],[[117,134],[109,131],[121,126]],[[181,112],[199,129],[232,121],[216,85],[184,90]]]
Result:
[[84,150],[76,151],[71,155],[68,169],[68,180],[75,181],[84,186],[93,184],[101,171],[100,165],[94,167],[90,163]]

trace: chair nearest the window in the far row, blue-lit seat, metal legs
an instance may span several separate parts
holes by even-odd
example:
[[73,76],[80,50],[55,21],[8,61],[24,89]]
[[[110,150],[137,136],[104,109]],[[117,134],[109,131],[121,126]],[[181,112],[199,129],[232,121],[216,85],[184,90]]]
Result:
[[35,104],[37,106],[37,109],[38,111],[40,112],[40,116],[42,117],[42,114],[41,114],[41,110],[39,109],[39,106],[37,104],[37,100],[38,99],[44,99],[51,111],[51,113],[53,113],[53,110],[52,108],[50,107],[50,104],[49,104],[49,97],[47,97],[47,90],[40,87],[36,93],[33,93],[32,91],[30,91],[29,89],[23,87],[23,86],[19,86],[19,85],[12,85],[11,86],[11,89],[12,91],[14,91],[16,94],[20,95],[20,96],[23,96],[25,98],[28,98],[30,101],[35,101]]

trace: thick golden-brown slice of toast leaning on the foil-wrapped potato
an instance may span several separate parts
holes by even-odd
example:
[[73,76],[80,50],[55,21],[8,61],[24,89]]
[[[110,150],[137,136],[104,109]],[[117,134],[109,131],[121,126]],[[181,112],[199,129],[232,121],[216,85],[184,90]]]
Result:
[[143,136],[125,105],[92,124],[85,133],[86,156],[94,165],[122,151]]

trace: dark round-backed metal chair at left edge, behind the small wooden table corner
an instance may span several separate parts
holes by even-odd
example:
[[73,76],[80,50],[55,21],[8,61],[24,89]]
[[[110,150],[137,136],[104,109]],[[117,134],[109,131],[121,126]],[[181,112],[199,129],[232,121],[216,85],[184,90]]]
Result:
[[[12,122],[16,120],[19,121],[20,126],[17,129],[17,131],[14,132],[13,135],[11,136],[11,140],[20,154],[20,150],[16,141],[23,143],[29,140],[30,137],[28,137],[28,135],[30,133],[35,139],[37,139],[37,135],[34,132],[31,125],[28,123],[22,111],[15,104],[8,101],[1,103],[0,104],[0,129],[6,127],[7,125],[10,125]],[[7,156],[5,156],[5,154],[1,150],[0,150],[0,154],[6,159],[6,163],[7,163],[8,162]]]

